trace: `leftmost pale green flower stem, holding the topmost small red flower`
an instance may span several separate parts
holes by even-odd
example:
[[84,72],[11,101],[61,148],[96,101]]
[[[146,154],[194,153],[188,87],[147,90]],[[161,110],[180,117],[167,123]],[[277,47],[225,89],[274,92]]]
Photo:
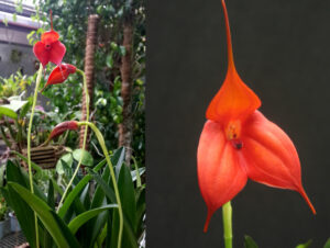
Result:
[[[40,64],[40,68],[38,68],[38,71],[37,71],[37,77],[36,77],[36,82],[35,82],[35,89],[34,89],[34,95],[33,95],[29,128],[28,128],[28,167],[29,167],[30,190],[31,190],[32,193],[34,193],[34,189],[33,189],[32,166],[31,166],[31,131],[32,131],[32,123],[33,123],[33,115],[34,115],[35,104],[36,104],[36,100],[37,100],[37,89],[40,87],[42,74],[43,74],[43,66],[42,66],[42,64]],[[36,216],[35,212],[34,212],[34,225],[35,225],[35,243],[36,243],[36,248],[38,248],[40,247],[40,244],[38,244],[38,227],[37,227],[37,216]]]

